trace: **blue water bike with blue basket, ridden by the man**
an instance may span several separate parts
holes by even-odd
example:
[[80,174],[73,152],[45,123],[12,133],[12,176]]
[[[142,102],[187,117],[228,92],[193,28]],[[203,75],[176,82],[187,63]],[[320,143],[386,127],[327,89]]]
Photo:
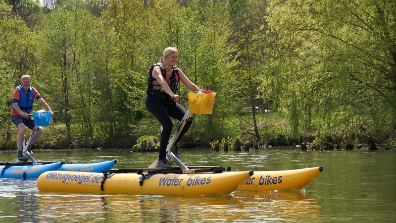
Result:
[[44,110],[34,111],[31,116],[34,118],[35,126],[29,140],[25,143],[24,139],[22,144],[22,154],[26,159],[23,161],[16,159],[14,162],[0,162],[0,178],[38,178],[41,173],[50,170],[102,172],[103,170],[109,171],[117,163],[116,160],[93,164],[64,164],[64,162],[35,160],[33,154],[29,152],[29,148],[39,127],[49,125],[51,112]]

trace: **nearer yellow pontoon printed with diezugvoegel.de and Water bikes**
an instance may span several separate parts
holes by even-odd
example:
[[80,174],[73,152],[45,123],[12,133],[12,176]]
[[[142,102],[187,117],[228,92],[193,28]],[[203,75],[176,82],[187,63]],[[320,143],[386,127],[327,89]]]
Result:
[[37,179],[37,188],[40,191],[99,194],[229,194],[252,174],[253,171],[146,175],[47,171]]

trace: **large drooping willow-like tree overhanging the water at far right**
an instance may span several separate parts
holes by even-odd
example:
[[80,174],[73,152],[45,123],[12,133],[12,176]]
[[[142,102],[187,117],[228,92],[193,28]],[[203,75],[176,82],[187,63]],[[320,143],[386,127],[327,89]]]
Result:
[[[299,124],[312,111],[319,113],[325,120],[319,129],[334,135],[347,135],[341,129],[359,129],[377,141],[394,138],[395,119],[390,118],[396,112],[394,3],[270,3],[267,19],[274,49],[265,87],[273,89],[270,94],[279,105],[300,112]],[[280,92],[285,94],[279,96]],[[297,106],[290,107],[293,98]]]

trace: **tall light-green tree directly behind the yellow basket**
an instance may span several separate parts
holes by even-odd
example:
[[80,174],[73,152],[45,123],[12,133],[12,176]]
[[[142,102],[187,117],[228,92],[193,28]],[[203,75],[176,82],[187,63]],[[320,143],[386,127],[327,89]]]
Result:
[[[199,116],[197,122],[204,123],[203,134],[207,139],[219,138],[224,134],[224,121],[228,114],[229,85],[236,62],[235,44],[231,38],[229,13],[226,2],[210,1],[199,8],[201,13],[201,44],[198,47],[197,82],[198,87],[217,92],[213,113]],[[202,118],[202,119],[201,119]]]

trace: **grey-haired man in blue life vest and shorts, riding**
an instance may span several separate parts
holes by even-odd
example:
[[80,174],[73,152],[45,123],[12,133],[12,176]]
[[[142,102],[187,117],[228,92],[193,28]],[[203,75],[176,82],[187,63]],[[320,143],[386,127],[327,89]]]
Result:
[[[23,75],[21,77],[21,85],[15,88],[12,93],[12,109],[11,109],[11,117],[12,122],[16,125],[19,130],[18,137],[16,138],[16,144],[18,149],[18,160],[26,160],[26,157],[22,154],[22,144],[23,139],[25,137],[26,127],[33,130],[35,124],[31,116],[29,114],[33,111],[33,103],[34,99],[40,102],[40,104],[47,111],[51,111],[48,104],[41,97],[36,88],[31,87],[32,79],[29,75]],[[51,111],[51,116],[53,112]],[[43,135],[44,129],[40,126],[39,130],[36,132],[34,138],[32,139],[32,143],[35,142]],[[33,152],[29,151],[31,155]]]

